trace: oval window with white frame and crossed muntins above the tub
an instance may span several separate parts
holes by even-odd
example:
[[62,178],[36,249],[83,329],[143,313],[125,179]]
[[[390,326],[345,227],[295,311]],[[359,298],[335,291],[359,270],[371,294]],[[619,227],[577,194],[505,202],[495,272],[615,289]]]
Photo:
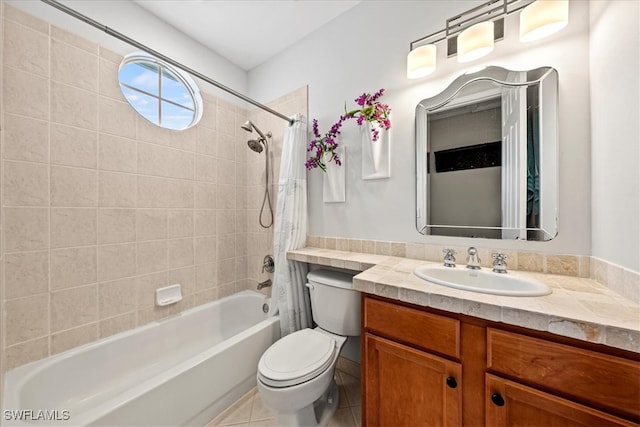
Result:
[[157,126],[183,130],[202,117],[202,98],[195,81],[151,55],[125,56],[118,81],[129,105]]

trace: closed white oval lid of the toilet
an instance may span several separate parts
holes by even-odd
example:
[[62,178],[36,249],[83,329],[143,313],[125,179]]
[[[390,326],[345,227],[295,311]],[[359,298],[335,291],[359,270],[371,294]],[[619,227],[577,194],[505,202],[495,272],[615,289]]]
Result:
[[274,387],[301,384],[324,372],[333,362],[336,342],[330,336],[302,329],[276,341],[258,363],[263,383]]

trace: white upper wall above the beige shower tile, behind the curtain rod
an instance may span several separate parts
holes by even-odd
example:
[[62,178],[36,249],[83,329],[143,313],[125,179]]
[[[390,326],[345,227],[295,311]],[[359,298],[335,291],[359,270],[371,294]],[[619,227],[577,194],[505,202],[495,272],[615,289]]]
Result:
[[[6,3],[120,54],[124,55],[138,50],[40,1],[6,0]],[[133,1],[65,0],[60,3],[163,55],[181,62],[231,89],[240,93],[247,92],[246,71],[169,26]],[[249,107],[244,101],[227,95],[225,92],[201,80],[198,81],[198,85],[202,90],[245,108]]]

